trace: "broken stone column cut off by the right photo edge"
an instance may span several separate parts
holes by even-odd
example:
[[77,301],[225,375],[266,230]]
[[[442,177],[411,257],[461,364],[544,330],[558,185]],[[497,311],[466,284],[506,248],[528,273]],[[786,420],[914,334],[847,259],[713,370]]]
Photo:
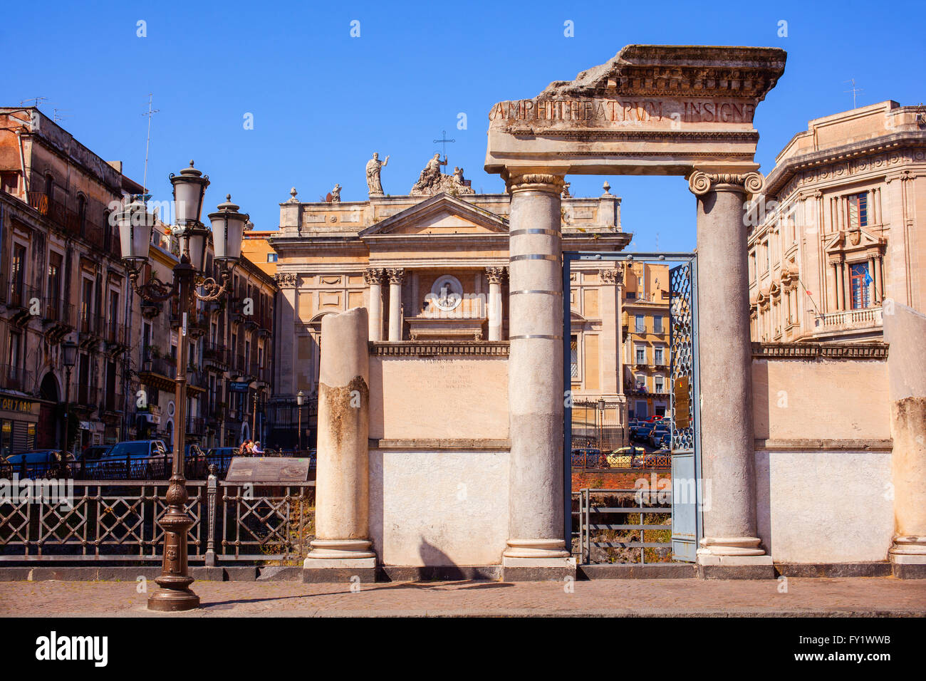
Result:
[[895,303],[884,311],[884,340],[891,396],[891,477],[897,577],[926,577],[926,315]]

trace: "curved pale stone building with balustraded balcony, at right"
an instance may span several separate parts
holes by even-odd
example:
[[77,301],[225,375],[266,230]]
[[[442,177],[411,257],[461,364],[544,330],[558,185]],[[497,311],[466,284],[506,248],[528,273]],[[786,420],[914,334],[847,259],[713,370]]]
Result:
[[926,309],[926,108],[811,120],[776,158],[748,237],[752,338],[870,341]]

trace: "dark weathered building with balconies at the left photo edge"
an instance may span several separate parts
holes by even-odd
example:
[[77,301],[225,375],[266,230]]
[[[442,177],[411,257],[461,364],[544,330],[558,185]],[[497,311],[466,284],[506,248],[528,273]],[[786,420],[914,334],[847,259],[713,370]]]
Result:
[[0,180],[0,455],[116,442],[133,295],[109,213],[142,187],[36,107],[0,108]]

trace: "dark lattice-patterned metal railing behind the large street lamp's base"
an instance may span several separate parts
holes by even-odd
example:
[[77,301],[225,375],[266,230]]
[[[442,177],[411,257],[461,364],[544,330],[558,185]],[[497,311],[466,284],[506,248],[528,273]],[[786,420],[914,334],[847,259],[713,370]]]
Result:
[[[167,481],[28,482],[31,498],[12,487],[16,494],[0,498],[0,561],[161,561],[157,520],[167,511]],[[305,557],[315,533],[314,482],[228,483],[213,474],[186,487],[191,562]]]

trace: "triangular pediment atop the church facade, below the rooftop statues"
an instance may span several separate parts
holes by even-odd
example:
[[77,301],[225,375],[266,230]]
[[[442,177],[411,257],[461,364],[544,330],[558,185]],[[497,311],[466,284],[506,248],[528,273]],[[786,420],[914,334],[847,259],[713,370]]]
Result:
[[498,235],[508,231],[507,221],[447,194],[434,195],[360,232],[365,237],[417,235]]

